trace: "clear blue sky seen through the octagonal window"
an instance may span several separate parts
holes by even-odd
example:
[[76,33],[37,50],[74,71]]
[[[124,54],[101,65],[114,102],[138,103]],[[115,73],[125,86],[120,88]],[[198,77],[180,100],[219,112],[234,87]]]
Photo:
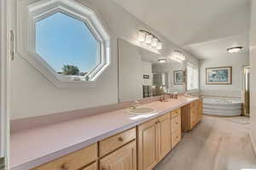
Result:
[[79,71],[96,66],[97,42],[84,22],[56,13],[36,23],[36,51],[55,71],[76,65]]

